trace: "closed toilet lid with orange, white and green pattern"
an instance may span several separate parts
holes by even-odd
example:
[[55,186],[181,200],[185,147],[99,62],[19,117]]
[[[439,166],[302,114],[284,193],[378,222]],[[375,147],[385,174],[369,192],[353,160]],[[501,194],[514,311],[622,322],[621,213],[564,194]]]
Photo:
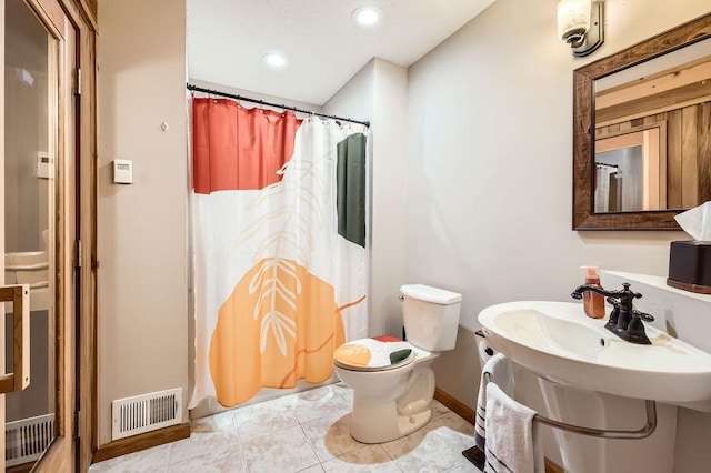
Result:
[[352,371],[387,371],[414,361],[414,350],[410,343],[380,339],[360,339],[342,344],[333,353],[333,363]]

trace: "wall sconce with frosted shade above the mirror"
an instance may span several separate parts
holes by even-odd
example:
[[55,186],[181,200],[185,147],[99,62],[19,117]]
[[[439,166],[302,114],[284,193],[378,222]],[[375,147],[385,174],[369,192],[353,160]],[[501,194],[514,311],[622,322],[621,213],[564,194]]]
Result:
[[604,41],[603,1],[559,0],[558,34],[570,44],[573,56],[588,56]]

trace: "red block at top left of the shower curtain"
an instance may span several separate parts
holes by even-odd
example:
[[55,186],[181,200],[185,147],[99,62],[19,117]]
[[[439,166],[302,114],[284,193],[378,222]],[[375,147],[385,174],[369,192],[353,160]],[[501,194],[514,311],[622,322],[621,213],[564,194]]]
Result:
[[301,120],[290,112],[246,109],[227,99],[192,100],[196,193],[254,190],[281,181]]

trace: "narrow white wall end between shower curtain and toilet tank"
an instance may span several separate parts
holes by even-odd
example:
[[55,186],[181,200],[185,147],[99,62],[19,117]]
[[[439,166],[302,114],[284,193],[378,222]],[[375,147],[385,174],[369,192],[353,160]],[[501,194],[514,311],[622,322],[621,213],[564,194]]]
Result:
[[405,68],[375,58],[323,105],[324,113],[371,122],[371,335],[402,334],[407,83]]

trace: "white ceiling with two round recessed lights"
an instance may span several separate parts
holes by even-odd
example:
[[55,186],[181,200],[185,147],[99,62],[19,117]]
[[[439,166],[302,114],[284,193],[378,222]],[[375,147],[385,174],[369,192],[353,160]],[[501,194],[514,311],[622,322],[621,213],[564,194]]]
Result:
[[[187,0],[191,80],[316,105],[326,103],[372,58],[408,67],[494,0]],[[383,12],[375,28],[351,13]],[[281,70],[262,57],[280,50]]]

